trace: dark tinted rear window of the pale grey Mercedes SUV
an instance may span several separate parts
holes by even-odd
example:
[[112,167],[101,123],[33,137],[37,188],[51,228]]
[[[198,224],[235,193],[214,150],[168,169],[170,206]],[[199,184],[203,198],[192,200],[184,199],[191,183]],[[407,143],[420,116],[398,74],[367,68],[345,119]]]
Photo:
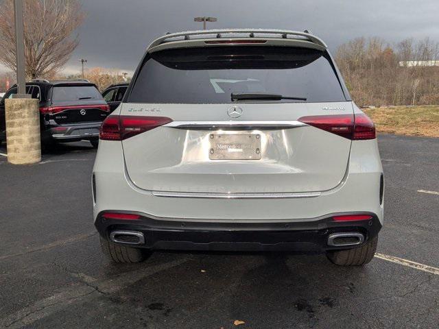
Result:
[[231,103],[231,93],[279,94],[307,102],[346,101],[326,51],[252,46],[152,53],[143,62],[128,101]]

